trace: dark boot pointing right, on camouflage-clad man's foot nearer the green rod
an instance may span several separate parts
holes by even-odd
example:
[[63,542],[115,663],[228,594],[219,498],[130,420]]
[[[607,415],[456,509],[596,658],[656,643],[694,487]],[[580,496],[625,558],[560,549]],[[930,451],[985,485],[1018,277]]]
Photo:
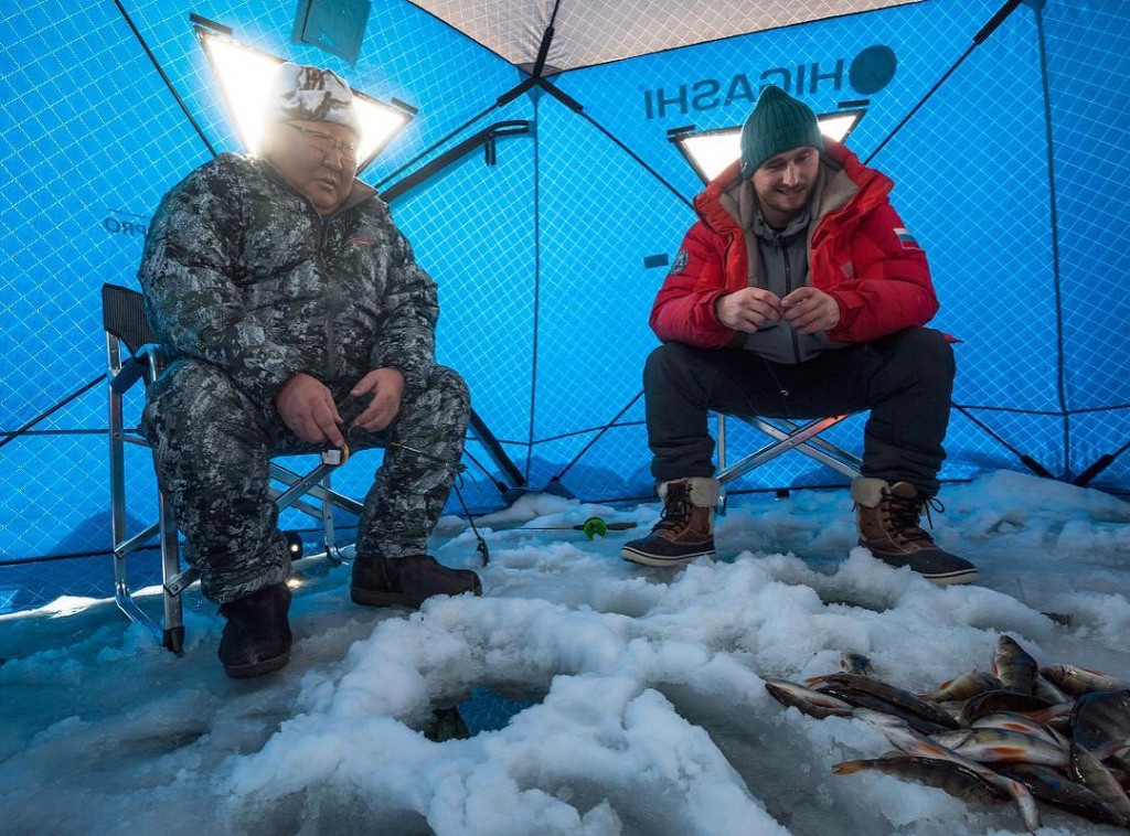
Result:
[[363,607],[410,607],[418,610],[432,595],[483,594],[470,569],[449,569],[431,555],[390,558],[357,555],[349,596]]

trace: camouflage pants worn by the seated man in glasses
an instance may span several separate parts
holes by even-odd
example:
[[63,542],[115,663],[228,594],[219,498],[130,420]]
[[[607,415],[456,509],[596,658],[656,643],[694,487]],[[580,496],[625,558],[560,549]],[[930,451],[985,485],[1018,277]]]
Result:
[[[349,397],[354,383],[328,384],[347,425],[365,407]],[[374,437],[374,445],[403,446],[385,450],[365,497],[358,554],[426,551],[454,481],[469,415],[467,384],[444,366],[433,369],[423,391],[405,392],[395,420]],[[254,403],[224,371],[198,360],[173,363],[149,387],[145,424],[157,482],[184,535],[185,558],[200,571],[205,596],[225,603],[285,581],[290,558],[269,493],[270,458],[319,447],[287,429],[273,407]],[[363,446],[350,442],[350,450]]]

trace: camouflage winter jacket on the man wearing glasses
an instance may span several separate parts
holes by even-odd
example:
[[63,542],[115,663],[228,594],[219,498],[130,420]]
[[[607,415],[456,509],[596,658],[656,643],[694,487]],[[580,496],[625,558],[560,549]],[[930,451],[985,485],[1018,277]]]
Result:
[[393,367],[418,391],[435,364],[435,282],[357,181],[323,218],[270,163],[217,157],[162,200],[138,277],[171,358],[227,369],[262,406],[298,372],[351,385]]

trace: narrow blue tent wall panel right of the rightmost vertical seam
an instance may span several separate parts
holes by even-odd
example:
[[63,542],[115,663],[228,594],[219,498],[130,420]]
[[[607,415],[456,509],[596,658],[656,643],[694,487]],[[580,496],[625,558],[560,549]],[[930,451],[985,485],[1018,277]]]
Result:
[[[1130,12],[1124,3],[1048,3],[1046,42],[1055,198],[1054,262],[1062,305],[1069,463],[1080,473],[1130,444],[1130,243],[1127,122]],[[1123,454],[1095,480],[1124,489]]]

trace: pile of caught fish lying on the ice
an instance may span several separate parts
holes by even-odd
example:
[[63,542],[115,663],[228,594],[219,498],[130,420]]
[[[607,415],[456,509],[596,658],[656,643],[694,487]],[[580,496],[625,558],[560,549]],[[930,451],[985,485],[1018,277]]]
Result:
[[966,802],[1014,800],[1040,827],[1036,802],[1130,829],[1130,680],[1068,664],[1040,667],[1001,636],[991,670],[912,694],[845,656],[844,670],[805,685],[770,679],[780,703],[824,719],[858,717],[897,751],[836,764],[837,775],[877,769]]

